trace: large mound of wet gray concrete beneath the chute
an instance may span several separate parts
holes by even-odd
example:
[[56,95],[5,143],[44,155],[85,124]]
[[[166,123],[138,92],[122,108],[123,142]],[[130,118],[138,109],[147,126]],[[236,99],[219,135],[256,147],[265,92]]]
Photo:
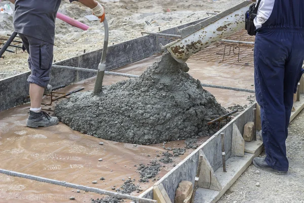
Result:
[[139,78],[104,86],[95,96],[73,94],[57,105],[55,115],[74,130],[124,143],[209,136],[217,130],[207,122],[227,112],[187,70],[164,53]]

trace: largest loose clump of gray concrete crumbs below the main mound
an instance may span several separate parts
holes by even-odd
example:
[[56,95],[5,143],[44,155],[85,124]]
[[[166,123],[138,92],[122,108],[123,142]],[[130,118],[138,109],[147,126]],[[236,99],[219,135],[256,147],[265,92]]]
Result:
[[152,160],[147,165],[139,164],[137,170],[140,174],[139,182],[149,182],[149,179],[155,178],[159,171],[161,171],[161,164],[157,160]]

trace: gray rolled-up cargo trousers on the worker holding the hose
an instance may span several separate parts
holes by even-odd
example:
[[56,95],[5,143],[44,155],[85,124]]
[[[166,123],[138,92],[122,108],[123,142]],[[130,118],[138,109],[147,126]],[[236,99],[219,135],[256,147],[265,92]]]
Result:
[[29,83],[35,83],[46,87],[50,82],[50,72],[53,62],[54,45],[19,33],[23,46],[28,56],[28,67],[31,74],[28,76]]

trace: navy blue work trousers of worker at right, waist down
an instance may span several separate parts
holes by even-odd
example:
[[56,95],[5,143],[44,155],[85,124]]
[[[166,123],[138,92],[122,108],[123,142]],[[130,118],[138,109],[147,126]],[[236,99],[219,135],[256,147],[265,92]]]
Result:
[[261,108],[265,161],[279,171],[288,171],[285,142],[303,60],[304,31],[257,32],[254,79],[256,100]]

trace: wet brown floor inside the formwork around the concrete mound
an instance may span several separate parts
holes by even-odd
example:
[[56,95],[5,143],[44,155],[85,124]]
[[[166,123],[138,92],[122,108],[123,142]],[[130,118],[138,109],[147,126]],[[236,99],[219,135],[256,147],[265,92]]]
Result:
[[[149,57],[118,69],[116,72],[140,75],[148,65],[156,61],[157,57],[159,56]],[[253,69],[250,67],[222,67],[191,59],[187,63],[190,67],[189,74],[203,83],[253,89],[251,86]],[[125,79],[127,78],[105,76],[104,85]],[[94,81],[95,78],[88,79],[59,91],[68,92],[80,87],[90,90],[94,87]],[[249,104],[247,96],[250,93],[206,89],[225,108],[233,104],[241,106]],[[50,107],[43,106],[43,108]],[[128,177],[136,179],[137,184],[140,175],[135,172],[137,167],[134,165],[147,164],[155,158],[159,159],[157,155],[161,156],[162,152],[166,152],[163,144],[135,147],[132,144],[101,140],[73,131],[62,123],[46,128],[28,128],[25,126],[28,110],[29,104],[25,104],[0,113],[0,168],[111,190],[113,185],[119,187],[124,183],[122,179],[127,180]],[[208,137],[200,139],[199,144],[207,139]],[[104,144],[99,145],[99,142]],[[165,144],[165,147],[180,148],[185,145],[184,141],[176,141]],[[172,163],[162,163],[166,167],[161,168],[159,177],[164,176],[173,168],[173,164],[180,162],[192,151],[188,149],[184,155],[173,157]],[[103,161],[98,161],[100,158]],[[105,178],[104,182],[100,180],[101,177]],[[98,183],[92,184],[95,180]],[[140,183],[143,190],[153,184],[152,181]],[[72,190],[76,189],[6,175],[0,176],[0,202],[74,202],[75,200],[69,200],[70,196],[75,196],[79,202],[84,202],[84,200],[90,202],[90,198],[101,197],[98,194],[83,194],[83,191],[71,192]]]

